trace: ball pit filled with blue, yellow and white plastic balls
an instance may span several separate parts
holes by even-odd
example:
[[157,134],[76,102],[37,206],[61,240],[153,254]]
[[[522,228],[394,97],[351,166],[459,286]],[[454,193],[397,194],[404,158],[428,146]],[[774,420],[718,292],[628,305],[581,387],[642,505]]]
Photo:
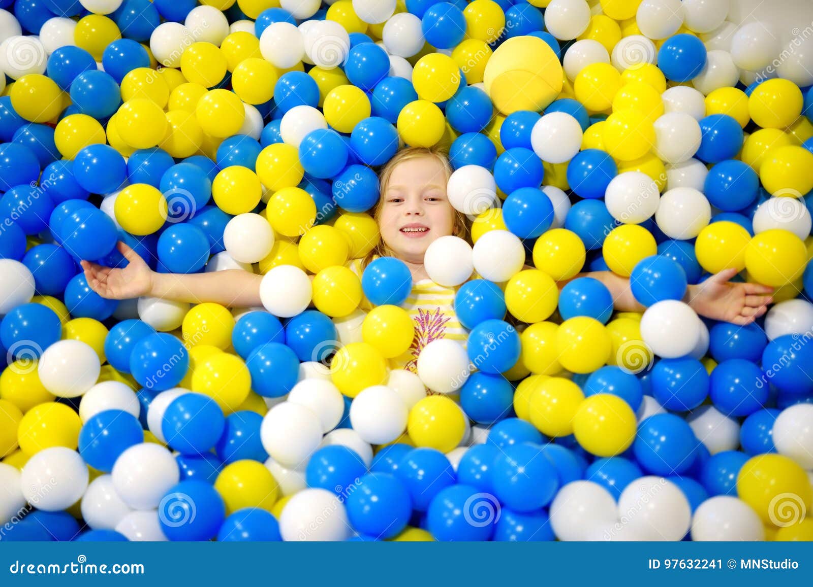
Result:
[[[0,541],[813,537],[785,31],[702,0],[44,6],[0,9]],[[470,225],[423,273],[377,254],[402,147],[449,153]],[[221,270],[233,303],[167,285]]]

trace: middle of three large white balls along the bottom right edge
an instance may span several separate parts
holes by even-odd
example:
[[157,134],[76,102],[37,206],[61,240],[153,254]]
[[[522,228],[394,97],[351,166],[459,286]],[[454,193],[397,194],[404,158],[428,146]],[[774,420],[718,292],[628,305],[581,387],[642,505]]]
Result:
[[622,523],[642,540],[680,541],[692,521],[689,500],[663,477],[641,477],[630,483],[621,492],[618,510]]

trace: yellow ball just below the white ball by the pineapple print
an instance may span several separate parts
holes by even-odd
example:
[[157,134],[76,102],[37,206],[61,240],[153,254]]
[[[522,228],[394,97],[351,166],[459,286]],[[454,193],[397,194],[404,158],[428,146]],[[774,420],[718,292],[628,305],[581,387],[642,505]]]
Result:
[[412,406],[406,431],[416,447],[449,452],[466,433],[463,410],[446,395],[429,395]]

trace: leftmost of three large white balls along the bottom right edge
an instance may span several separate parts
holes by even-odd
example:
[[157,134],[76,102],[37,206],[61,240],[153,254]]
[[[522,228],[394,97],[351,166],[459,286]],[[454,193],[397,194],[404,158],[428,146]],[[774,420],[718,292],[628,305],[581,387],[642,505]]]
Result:
[[615,524],[618,508],[609,491],[593,481],[572,481],[550,504],[550,527],[561,541],[584,541],[600,526]]

